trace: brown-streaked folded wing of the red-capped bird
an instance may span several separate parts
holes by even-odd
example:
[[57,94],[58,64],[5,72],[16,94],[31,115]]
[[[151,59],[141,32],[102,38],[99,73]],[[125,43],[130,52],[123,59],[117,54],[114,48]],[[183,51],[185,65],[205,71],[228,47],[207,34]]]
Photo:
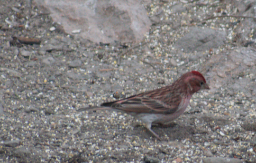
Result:
[[153,99],[149,97],[132,96],[130,98],[114,101],[112,103],[104,103],[102,106],[111,107],[127,112],[134,113],[156,113],[171,114],[174,113],[181,103],[181,96],[175,99]]

